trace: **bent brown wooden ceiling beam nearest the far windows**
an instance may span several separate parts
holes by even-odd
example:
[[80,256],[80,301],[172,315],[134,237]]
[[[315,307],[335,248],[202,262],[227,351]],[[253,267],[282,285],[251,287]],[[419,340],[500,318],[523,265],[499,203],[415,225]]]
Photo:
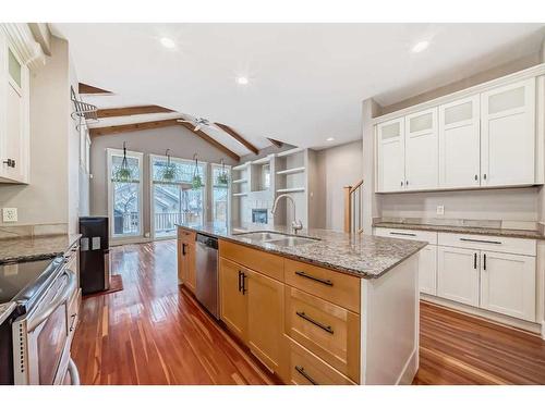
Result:
[[130,123],[125,125],[116,125],[116,126],[106,126],[106,127],[92,127],[89,128],[89,133],[92,137],[97,136],[106,136],[106,135],[118,135],[121,133],[136,132],[136,131],[145,131],[150,128],[160,128],[160,127],[169,127],[169,126],[183,126],[186,129],[191,131],[194,135],[201,137],[203,140],[207,141],[209,145],[214,146],[216,149],[222,151],[230,158],[240,161],[240,156],[234,151],[228,149],[219,141],[214,140],[210,136],[208,136],[203,131],[194,131],[194,126],[189,123],[180,123],[177,119],[169,119],[164,121],[152,121],[152,122],[141,122],[141,123]]

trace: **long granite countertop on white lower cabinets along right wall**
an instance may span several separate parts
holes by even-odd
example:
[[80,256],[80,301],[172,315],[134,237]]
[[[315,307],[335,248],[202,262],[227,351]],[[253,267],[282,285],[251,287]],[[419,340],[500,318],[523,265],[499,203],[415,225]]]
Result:
[[410,224],[397,222],[377,222],[373,224],[376,227],[399,228],[399,230],[417,230],[433,231],[458,234],[475,234],[475,235],[495,235],[512,238],[529,238],[529,239],[545,239],[543,234],[537,231],[530,230],[509,230],[509,228],[491,228],[481,226],[462,226],[462,225],[434,225],[434,224]]

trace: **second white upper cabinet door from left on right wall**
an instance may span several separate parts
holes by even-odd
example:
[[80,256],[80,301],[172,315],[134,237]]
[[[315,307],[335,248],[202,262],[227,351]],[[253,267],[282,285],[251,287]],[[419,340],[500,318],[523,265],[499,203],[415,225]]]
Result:
[[437,108],[407,115],[404,138],[405,189],[437,188]]

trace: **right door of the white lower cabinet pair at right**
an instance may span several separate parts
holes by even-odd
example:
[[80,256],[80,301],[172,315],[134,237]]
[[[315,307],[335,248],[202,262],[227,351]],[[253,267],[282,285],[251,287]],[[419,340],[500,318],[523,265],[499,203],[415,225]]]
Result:
[[535,321],[535,258],[481,252],[481,307]]

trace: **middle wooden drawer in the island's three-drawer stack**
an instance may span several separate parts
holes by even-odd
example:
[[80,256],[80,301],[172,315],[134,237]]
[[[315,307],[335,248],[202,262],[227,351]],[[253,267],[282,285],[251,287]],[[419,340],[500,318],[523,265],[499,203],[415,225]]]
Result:
[[360,378],[360,316],[286,287],[286,334],[336,370]]

